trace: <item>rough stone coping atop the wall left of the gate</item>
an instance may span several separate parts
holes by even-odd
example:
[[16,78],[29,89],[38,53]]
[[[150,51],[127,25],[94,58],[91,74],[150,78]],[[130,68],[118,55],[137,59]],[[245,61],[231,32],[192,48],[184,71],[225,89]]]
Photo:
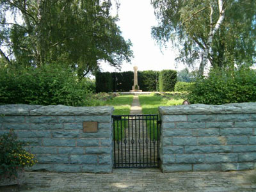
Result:
[[111,106],[72,107],[72,106],[38,106],[28,104],[8,104],[0,106],[0,115],[112,115]]

